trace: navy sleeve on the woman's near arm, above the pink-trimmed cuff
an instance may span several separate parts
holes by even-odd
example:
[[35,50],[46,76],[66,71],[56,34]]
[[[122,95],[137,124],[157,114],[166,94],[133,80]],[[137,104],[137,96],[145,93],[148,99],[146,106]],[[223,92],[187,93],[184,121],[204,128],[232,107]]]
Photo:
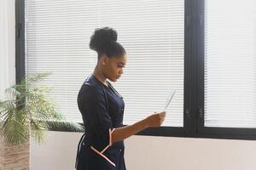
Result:
[[82,87],[79,102],[87,118],[91,129],[96,133],[98,139],[103,143],[109,143],[109,129],[113,129],[111,118],[108,114],[107,101],[102,87],[84,84]]

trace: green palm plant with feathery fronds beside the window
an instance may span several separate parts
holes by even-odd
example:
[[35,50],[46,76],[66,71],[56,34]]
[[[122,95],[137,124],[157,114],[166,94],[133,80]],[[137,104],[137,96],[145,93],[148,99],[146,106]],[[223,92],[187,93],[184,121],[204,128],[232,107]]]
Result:
[[49,76],[38,73],[23,78],[20,83],[7,88],[6,100],[0,100],[0,134],[9,144],[22,144],[32,138],[44,141],[44,132],[52,127],[67,127],[82,132],[77,123],[66,122],[49,97],[49,87],[37,86],[36,82]]

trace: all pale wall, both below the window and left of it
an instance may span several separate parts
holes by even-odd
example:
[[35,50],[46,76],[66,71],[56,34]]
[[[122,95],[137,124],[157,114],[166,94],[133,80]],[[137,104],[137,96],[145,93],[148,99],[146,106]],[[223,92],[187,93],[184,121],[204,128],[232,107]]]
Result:
[[[15,0],[0,0],[0,97],[15,82]],[[32,142],[32,170],[72,170],[81,133],[48,132]],[[128,170],[255,170],[256,141],[132,136]]]

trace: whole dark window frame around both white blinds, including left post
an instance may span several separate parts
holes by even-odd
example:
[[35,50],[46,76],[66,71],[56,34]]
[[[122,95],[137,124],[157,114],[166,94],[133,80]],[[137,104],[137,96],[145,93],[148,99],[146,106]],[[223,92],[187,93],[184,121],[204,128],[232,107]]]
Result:
[[[184,0],[183,127],[150,127],[137,135],[256,140],[256,128],[204,127],[204,5],[205,0]],[[15,22],[15,73],[20,82],[26,76],[24,0],[15,0]]]

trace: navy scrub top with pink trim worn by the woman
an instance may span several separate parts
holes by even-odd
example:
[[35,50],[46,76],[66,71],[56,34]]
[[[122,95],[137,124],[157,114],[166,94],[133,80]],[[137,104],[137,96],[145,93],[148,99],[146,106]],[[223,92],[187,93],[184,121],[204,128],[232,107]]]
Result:
[[123,141],[112,144],[114,128],[123,127],[125,103],[108,82],[108,87],[94,75],[87,77],[78,95],[85,133],[81,137],[77,170],[125,170]]

